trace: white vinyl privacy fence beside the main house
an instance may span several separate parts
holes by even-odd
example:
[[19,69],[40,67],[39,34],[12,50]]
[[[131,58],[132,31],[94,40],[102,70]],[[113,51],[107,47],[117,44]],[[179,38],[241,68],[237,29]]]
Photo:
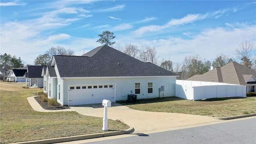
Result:
[[176,96],[187,100],[246,97],[246,86],[219,82],[176,80]]

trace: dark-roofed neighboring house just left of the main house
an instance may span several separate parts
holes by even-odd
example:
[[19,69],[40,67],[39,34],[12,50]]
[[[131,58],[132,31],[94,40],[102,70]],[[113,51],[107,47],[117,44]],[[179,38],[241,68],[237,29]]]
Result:
[[42,69],[46,66],[27,66],[26,72],[26,85],[36,88],[44,87],[44,77],[42,75]]

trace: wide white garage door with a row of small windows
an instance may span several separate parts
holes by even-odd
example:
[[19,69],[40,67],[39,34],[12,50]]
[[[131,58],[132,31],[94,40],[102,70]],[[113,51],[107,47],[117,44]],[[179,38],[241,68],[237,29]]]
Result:
[[114,102],[114,84],[68,86],[68,105],[102,103],[102,100]]

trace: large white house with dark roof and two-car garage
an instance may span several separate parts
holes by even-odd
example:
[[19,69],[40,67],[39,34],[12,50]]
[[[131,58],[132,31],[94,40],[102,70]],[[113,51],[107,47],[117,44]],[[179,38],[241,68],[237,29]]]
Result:
[[175,96],[177,75],[142,62],[109,46],[99,46],[82,56],[54,56],[42,70],[44,92],[62,105],[115,102]]

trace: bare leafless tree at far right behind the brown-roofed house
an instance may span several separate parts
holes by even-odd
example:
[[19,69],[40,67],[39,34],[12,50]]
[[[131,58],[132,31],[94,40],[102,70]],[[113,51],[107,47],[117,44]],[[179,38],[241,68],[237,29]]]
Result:
[[241,60],[241,64],[251,68],[252,62],[256,59],[256,54],[252,54],[252,51],[255,50],[254,45],[250,42],[242,42],[238,48],[236,48],[236,56]]

